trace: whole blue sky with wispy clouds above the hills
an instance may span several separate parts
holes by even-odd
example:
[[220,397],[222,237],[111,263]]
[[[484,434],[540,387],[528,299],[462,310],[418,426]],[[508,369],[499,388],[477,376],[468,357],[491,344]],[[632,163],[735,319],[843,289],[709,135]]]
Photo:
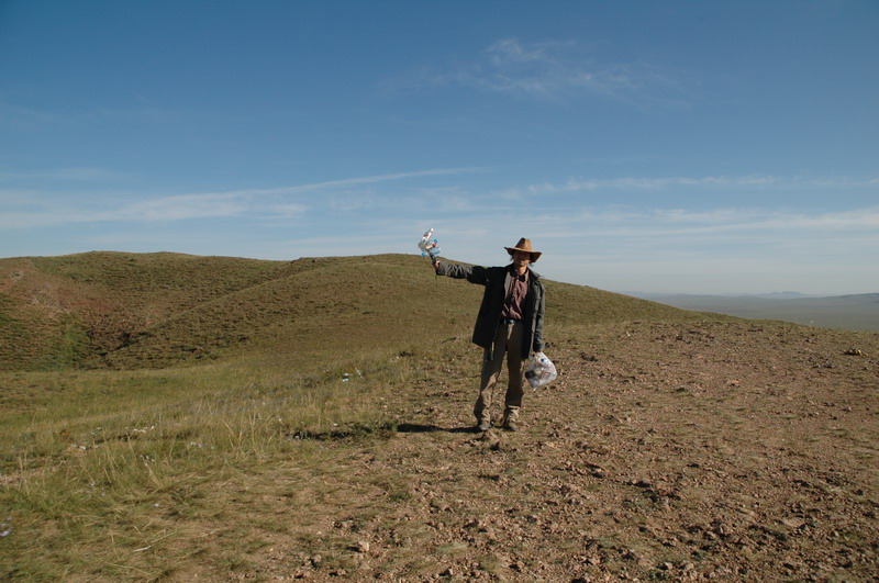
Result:
[[433,227],[612,291],[877,292],[877,30],[874,0],[0,0],[0,257]]

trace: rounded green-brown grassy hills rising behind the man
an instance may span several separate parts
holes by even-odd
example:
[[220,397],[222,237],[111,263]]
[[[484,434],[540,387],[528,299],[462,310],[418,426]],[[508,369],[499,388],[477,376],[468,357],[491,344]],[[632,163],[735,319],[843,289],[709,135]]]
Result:
[[[686,312],[547,282],[553,321]],[[235,355],[358,350],[469,334],[480,290],[416,256],[265,261],[88,253],[0,260],[0,370],[160,368]],[[430,323],[425,325],[424,323]]]

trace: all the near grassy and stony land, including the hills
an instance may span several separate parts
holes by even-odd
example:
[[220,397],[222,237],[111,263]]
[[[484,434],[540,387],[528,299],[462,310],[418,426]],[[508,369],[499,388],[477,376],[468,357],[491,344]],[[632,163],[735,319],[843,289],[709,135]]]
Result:
[[549,282],[561,374],[478,436],[479,290],[421,258],[87,254],[0,281],[7,579],[877,569],[876,334]]

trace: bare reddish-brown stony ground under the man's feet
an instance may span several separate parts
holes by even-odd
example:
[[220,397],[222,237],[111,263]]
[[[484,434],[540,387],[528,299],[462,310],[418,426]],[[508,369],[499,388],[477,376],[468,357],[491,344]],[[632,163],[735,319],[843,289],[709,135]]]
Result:
[[324,469],[279,467],[251,491],[289,528],[262,534],[230,576],[876,580],[879,335],[570,330],[521,429],[483,435],[470,430],[479,352],[461,338],[447,350],[388,400],[392,435],[320,440]]

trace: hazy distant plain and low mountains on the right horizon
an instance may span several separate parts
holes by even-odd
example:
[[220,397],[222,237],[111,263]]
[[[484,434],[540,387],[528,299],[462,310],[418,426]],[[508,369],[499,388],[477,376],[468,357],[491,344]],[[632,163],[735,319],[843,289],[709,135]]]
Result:
[[627,295],[661,304],[731,316],[781,319],[822,328],[879,332],[879,293],[812,296],[797,292],[759,295],[641,293]]

